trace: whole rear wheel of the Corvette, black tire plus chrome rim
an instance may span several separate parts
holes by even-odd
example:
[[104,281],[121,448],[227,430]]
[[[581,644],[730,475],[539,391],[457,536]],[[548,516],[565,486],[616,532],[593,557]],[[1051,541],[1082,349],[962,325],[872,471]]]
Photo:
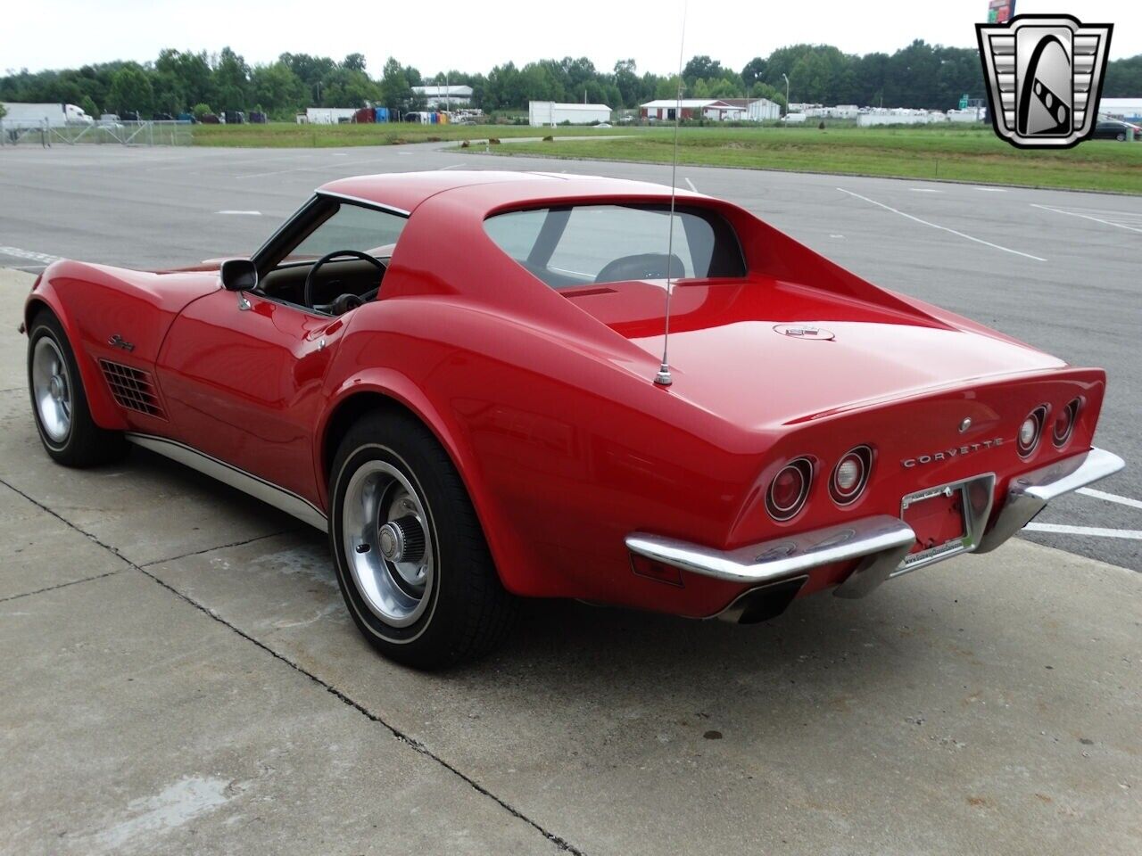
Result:
[[372,413],[333,459],[330,540],[357,628],[385,656],[435,669],[485,653],[515,599],[436,438],[405,414]]

